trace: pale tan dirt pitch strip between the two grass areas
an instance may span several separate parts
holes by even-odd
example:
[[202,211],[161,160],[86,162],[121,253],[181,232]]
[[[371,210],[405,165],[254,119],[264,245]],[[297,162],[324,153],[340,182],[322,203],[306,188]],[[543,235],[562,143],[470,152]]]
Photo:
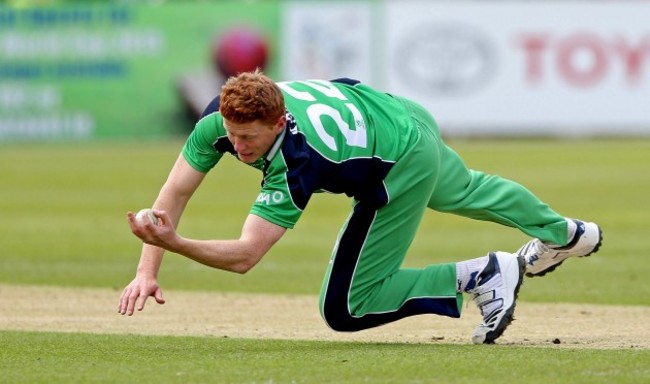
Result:
[[[117,313],[119,291],[0,285],[0,330],[212,336],[380,343],[470,344],[480,314],[417,316],[358,332],[330,330],[318,297],[165,291],[132,317]],[[570,348],[650,348],[650,307],[520,302],[498,344]]]

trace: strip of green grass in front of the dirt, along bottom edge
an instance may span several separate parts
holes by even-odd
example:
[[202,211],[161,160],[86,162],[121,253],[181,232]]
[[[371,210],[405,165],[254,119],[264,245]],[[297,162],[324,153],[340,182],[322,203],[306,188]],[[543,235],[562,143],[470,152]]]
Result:
[[[650,351],[0,332],[14,383],[641,383]],[[25,367],[29,367],[25,369]]]

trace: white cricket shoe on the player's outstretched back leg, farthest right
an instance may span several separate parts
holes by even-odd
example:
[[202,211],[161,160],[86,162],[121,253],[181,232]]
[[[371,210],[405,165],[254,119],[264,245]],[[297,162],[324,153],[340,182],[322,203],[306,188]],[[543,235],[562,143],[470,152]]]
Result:
[[533,239],[516,252],[526,259],[526,276],[544,276],[553,272],[564,260],[571,256],[589,256],[598,252],[603,241],[603,232],[595,223],[573,220],[577,225],[576,233],[569,244],[556,247]]

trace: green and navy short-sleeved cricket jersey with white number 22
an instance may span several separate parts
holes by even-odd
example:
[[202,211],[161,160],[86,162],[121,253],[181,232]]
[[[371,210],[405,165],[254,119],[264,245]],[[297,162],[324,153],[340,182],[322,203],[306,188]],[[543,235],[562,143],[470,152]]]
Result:
[[[390,196],[384,178],[417,140],[413,119],[392,96],[349,79],[278,83],[287,124],[255,166],[264,173],[251,213],[292,228],[315,192],[345,193],[373,206]],[[183,155],[208,172],[228,152],[236,156],[218,112],[207,110]]]

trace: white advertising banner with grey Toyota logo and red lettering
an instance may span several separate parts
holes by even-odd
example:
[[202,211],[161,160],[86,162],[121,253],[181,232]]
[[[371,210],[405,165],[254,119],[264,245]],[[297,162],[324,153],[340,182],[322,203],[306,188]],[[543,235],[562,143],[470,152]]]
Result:
[[445,134],[650,134],[650,2],[386,7],[382,86]]

